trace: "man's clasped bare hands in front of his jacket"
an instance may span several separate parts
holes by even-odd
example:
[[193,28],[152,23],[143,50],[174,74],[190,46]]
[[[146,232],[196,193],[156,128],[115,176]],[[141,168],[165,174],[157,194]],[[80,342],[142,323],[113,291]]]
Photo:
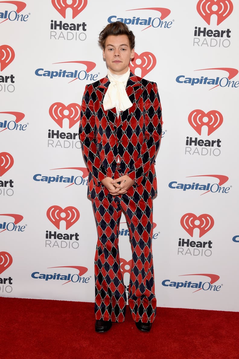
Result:
[[127,193],[128,189],[133,186],[135,182],[125,174],[115,180],[111,177],[106,177],[101,183],[107,188],[112,196],[118,196]]

